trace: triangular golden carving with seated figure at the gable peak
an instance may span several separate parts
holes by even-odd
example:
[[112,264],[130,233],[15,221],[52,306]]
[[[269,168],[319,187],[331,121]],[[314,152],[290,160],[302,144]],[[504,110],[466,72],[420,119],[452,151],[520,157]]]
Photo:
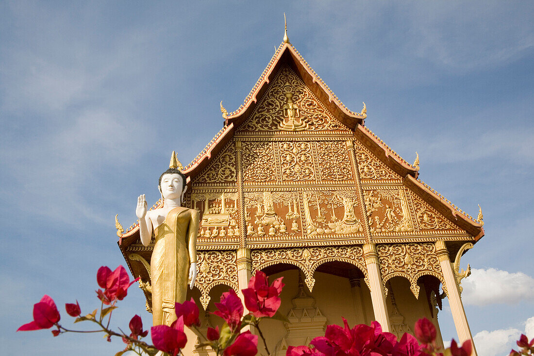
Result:
[[239,128],[238,133],[326,130],[350,132],[328,113],[293,69],[284,66],[279,69],[252,117]]

